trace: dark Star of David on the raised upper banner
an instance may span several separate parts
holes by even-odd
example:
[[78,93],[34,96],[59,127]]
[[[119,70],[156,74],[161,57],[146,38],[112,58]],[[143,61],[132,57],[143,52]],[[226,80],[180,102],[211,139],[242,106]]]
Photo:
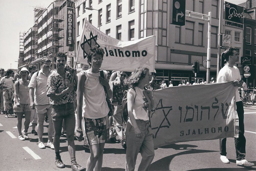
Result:
[[100,47],[100,45],[96,42],[97,41],[97,37],[93,36],[92,32],[90,32],[90,39],[87,39],[86,36],[83,36],[83,43],[81,43],[81,48],[83,50],[83,59],[86,58],[87,53],[90,51],[90,47],[92,46],[97,46],[98,48]]

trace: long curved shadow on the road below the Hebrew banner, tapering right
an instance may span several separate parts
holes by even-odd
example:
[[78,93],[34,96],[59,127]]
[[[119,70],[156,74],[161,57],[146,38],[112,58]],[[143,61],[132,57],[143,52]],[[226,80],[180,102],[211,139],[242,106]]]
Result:
[[[177,154],[173,154],[170,156],[166,156],[150,165],[150,170],[169,170],[169,165],[172,161],[172,159],[175,156],[179,155],[185,155],[185,154],[194,154],[194,153],[210,153],[210,152],[217,152],[217,151],[212,151],[212,150],[196,150],[196,149],[189,149],[188,151],[183,151]],[[161,168],[159,167],[161,166]]]

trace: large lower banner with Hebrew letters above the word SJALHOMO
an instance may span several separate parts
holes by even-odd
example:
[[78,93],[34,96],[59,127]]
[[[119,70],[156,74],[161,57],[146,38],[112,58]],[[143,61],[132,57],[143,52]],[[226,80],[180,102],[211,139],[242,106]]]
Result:
[[149,111],[154,147],[177,142],[238,137],[232,82],[153,91]]

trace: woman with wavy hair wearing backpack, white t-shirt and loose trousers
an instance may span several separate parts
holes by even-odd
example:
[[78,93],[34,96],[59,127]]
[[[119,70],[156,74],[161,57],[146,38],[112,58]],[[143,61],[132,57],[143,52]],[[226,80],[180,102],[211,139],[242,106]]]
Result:
[[131,89],[127,93],[127,109],[129,119],[127,121],[125,138],[126,171],[134,170],[138,152],[141,152],[142,160],[138,170],[148,170],[154,159],[153,133],[149,124],[148,101],[145,97],[147,90],[144,86],[151,81],[149,70],[138,67],[133,74],[126,79],[125,84]]

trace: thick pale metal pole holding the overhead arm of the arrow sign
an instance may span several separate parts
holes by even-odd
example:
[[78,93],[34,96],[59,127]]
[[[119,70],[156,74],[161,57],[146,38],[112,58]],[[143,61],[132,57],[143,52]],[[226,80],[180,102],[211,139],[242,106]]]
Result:
[[207,67],[206,67],[206,83],[210,83],[210,68],[211,68],[211,12],[208,13],[208,45],[207,45]]

